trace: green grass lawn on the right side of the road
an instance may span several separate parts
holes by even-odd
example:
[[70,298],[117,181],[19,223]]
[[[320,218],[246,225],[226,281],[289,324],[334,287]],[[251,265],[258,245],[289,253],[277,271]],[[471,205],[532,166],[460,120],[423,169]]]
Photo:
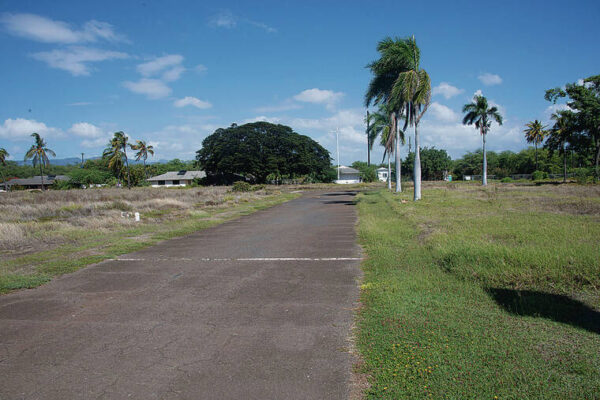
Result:
[[597,199],[553,190],[359,195],[367,398],[600,398]]

